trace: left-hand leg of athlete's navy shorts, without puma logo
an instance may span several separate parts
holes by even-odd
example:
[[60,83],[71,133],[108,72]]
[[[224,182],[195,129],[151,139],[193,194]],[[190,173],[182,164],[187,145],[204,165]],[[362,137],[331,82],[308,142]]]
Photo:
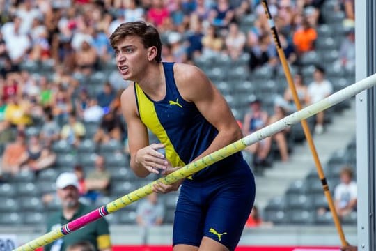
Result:
[[184,244],[198,248],[201,243],[205,212],[194,201],[195,197],[199,196],[196,188],[182,187],[180,190],[175,210],[175,220],[173,222],[174,247]]

